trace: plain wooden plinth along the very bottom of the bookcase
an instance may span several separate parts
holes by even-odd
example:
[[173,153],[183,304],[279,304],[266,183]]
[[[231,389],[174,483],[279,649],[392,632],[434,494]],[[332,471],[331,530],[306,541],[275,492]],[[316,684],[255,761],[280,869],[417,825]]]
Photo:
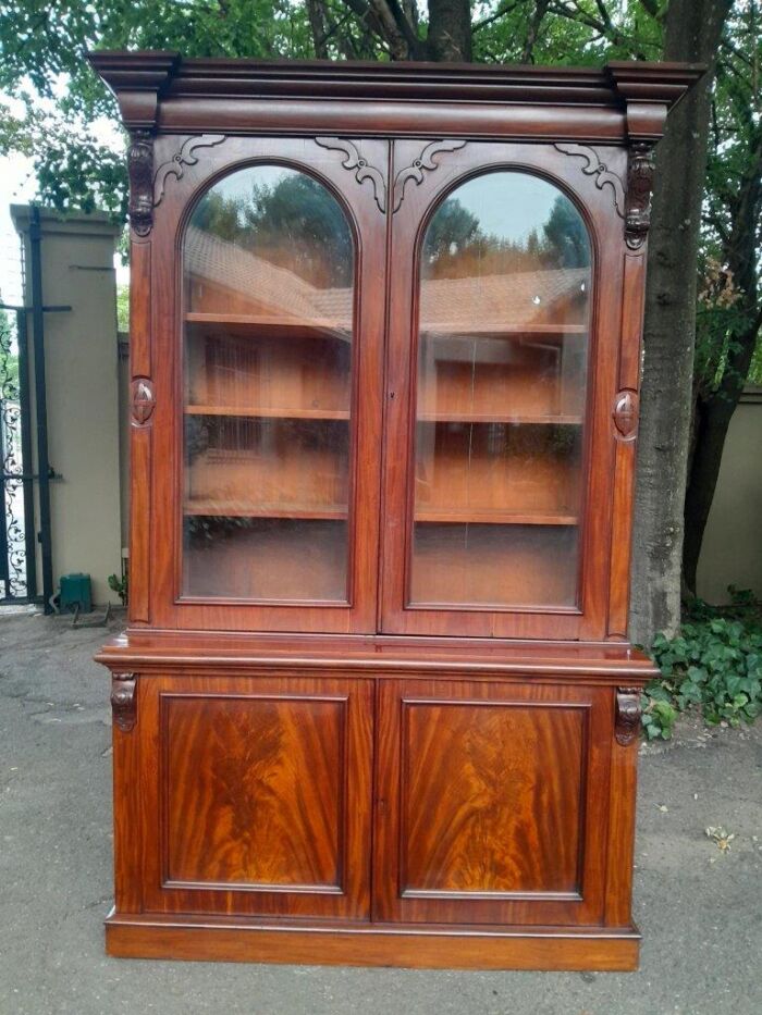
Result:
[[640,934],[601,928],[441,928],[413,925],[276,926],[255,919],[116,916],[106,950],[121,958],[629,973]]

